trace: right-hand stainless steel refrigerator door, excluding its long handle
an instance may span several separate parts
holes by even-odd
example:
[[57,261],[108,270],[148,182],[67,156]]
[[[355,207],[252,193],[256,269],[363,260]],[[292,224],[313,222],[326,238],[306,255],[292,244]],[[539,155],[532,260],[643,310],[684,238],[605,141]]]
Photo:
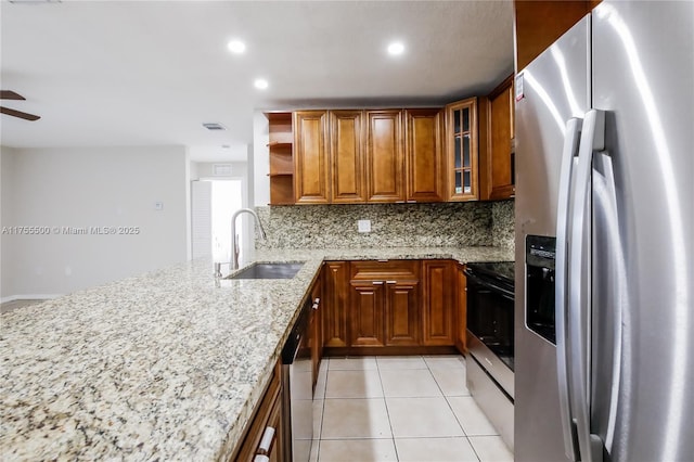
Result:
[[694,2],[606,0],[592,16],[615,183],[593,216],[592,432],[613,461],[692,461]]

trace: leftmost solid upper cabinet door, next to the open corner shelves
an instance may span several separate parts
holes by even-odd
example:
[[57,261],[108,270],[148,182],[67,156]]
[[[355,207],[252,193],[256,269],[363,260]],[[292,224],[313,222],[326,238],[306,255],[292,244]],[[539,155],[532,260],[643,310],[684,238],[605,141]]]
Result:
[[296,204],[327,204],[326,111],[294,113],[294,198]]

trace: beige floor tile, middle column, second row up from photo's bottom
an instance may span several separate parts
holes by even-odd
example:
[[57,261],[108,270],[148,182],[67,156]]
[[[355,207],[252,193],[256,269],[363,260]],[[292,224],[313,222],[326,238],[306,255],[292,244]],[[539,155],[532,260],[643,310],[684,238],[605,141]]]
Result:
[[396,438],[465,436],[446,399],[386,398]]

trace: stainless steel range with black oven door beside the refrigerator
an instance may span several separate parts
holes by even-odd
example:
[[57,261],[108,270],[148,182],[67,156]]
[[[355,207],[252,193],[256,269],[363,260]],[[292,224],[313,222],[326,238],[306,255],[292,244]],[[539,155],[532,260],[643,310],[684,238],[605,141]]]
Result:
[[467,388],[513,449],[514,262],[477,262],[467,277]]

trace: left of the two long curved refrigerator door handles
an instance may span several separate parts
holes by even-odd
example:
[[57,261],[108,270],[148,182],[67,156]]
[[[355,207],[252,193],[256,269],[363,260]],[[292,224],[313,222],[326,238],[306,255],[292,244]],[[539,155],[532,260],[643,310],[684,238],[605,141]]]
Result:
[[556,273],[555,273],[555,325],[556,325],[556,365],[560,394],[560,411],[562,415],[562,433],[564,450],[571,461],[578,460],[578,441],[576,426],[569,403],[569,376],[567,368],[568,345],[566,342],[566,307],[569,279],[567,278],[568,231],[570,229],[571,184],[575,161],[578,156],[579,137],[582,119],[570,118],[564,132],[562,149],[562,170],[560,174],[558,203],[556,211]]

